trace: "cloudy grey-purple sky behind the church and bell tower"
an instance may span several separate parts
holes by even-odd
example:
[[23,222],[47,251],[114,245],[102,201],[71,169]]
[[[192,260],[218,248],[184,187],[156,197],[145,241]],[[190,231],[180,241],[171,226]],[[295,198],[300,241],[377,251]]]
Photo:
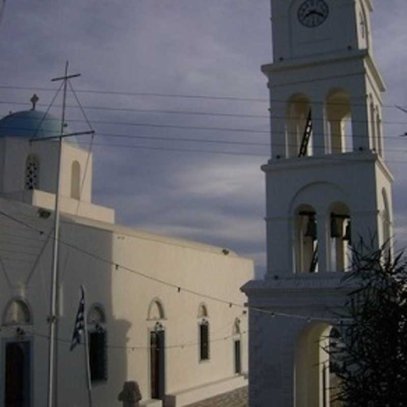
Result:
[[[46,109],[54,76],[73,80],[96,130],[94,201],[119,223],[235,249],[265,265],[270,0],[7,0],[0,116]],[[405,0],[376,0],[374,54],[399,246],[407,245]],[[34,88],[34,89],[32,89]],[[51,108],[60,114],[61,99]],[[69,97],[71,129],[88,130]],[[87,136],[85,136],[87,137]],[[83,142],[89,141],[83,138]],[[109,144],[109,146],[106,146]]]

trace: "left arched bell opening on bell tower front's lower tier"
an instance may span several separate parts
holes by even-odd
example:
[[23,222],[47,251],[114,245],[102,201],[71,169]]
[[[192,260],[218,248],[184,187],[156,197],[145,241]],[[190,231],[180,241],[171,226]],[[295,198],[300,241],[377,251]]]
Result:
[[310,205],[302,205],[296,211],[294,231],[295,272],[318,271],[318,236],[316,211]]

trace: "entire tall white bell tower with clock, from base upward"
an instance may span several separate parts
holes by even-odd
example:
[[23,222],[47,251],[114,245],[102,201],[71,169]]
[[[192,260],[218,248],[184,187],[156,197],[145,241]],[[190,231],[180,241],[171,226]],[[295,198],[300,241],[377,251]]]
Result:
[[[242,289],[250,313],[250,407],[329,406],[329,334],[349,245],[392,237],[371,0],[271,0],[267,274]],[[293,315],[282,316],[283,315]],[[325,319],[327,318],[327,319]],[[321,368],[323,366],[323,369]],[[327,370],[328,369],[328,370]],[[327,384],[328,383],[328,384]]]

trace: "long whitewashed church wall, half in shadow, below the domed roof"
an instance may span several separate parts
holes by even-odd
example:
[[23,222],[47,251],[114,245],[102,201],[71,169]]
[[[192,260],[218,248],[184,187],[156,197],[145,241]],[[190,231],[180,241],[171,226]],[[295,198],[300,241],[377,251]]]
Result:
[[[40,219],[35,207],[15,201],[0,199],[0,208],[44,230],[44,234],[40,235],[34,229],[16,225],[11,219],[6,225],[2,220],[0,228],[4,234],[3,242],[8,241],[15,248],[20,248],[20,254],[13,257],[15,260],[4,262],[6,273],[0,272],[0,312],[5,309],[7,301],[17,294],[33,310],[33,324],[25,327],[26,333],[20,339],[29,340],[33,346],[32,397],[34,406],[41,406],[45,403],[47,388],[46,317],[49,314],[52,257],[52,239],[48,239],[48,234],[53,220],[52,216],[46,220]],[[247,316],[243,314],[243,309],[202,299],[183,289],[178,292],[177,287],[188,287],[197,293],[243,304],[245,296],[239,292],[239,287],[254,277],[251,260],[238,257],[233,252],[225,255],[221,248],[214,246],[164,238],[75,216],[63,216],[61,242],[56,384],[61,407],[86,404],[83,346],[78,346],[72,353],[69,351],[80,284],[86,288],[88,307],[100,304],[106,315],[103,327],[108,342],[107,381],[94,384],[92,393],[95,405],[117,405],[117,395],[127,380],[138,381],[143,400],[151,397],[149,332],[154,330],[157,322],[165,330],[168,347],[165,350],[166,394],[188,391],[236,376],[232,336],[236,318],[241,322],[242,371],[247,372]],[[69,248],[66,243],[80,250]],[[7,247],[3,243],[1,247],[3,259]],[[86,252],[107,261],[89,256]],[[151,281],[122,267],[117,269],[110,262],[173,283],[176,287]],[[12,272],[10,282],[6,277],[7,272]],[[149,306],[154,299],[159,299],[163,306],[163,319],[148,318]],[[206,319],[210,324],[208,361],[199,361],[198,324],[202,318],[198,318],[198,308],[202,302],[207,306]],[[0,343],[16,340],[17,326],[10,328],[1,330]],[[91,326],[92,329],[95,327]],[[3,346],[0,349],[2,368],[5,365],[4,355]],[[218,391],[222,388],[229,390],[230,383],[218,383]],[[236,383],[244,385],[244,381]],[[0,397],[3,397],[3,391],[0,388]],[[189,400],[195,401],[193,397]]]

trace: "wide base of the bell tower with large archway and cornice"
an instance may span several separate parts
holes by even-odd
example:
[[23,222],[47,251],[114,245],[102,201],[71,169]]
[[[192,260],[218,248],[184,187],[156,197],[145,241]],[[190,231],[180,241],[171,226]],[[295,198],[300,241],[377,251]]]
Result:
[[322,346],[350,290],[341,277],[293,275],[242,287],[250,312],[249,407],[329,405],[329,360]]

